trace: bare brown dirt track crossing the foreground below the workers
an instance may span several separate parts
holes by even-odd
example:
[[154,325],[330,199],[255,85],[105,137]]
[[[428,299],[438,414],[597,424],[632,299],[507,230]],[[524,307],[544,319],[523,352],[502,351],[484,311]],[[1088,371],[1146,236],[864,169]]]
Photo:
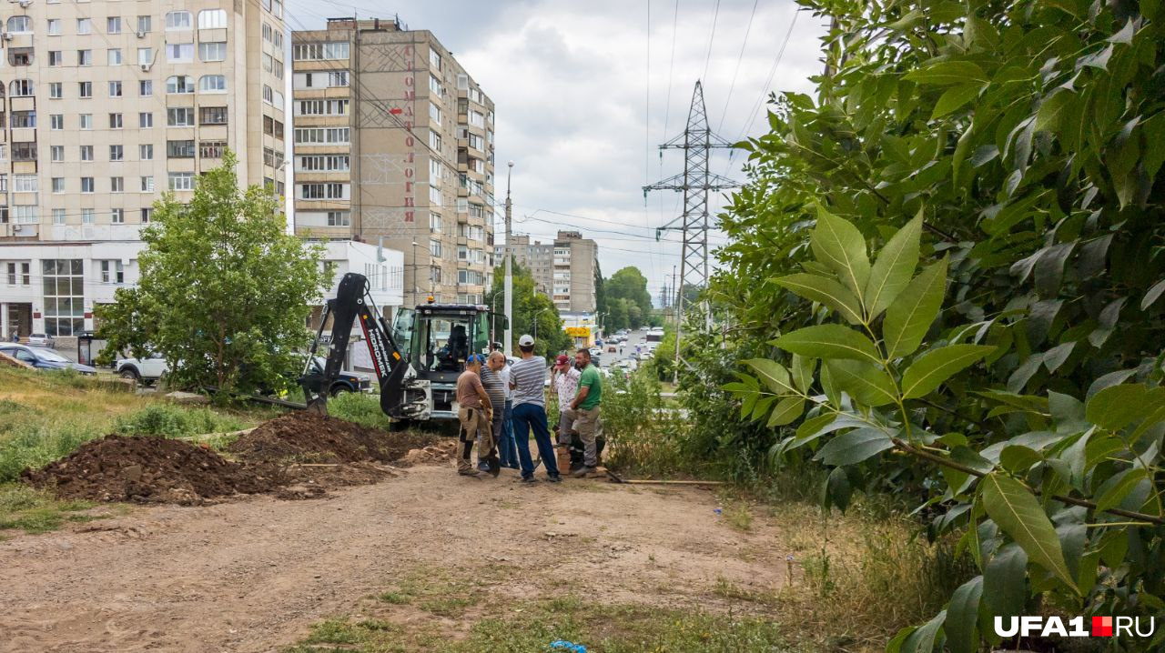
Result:
[[771,527],[715,508],[696,488],[527,487],[445,463],[316,501],[135,509],[0,542],[0,651],[277,651],[425,568],[502,569],[515,598],[705,610],[718,581],[783,584]]

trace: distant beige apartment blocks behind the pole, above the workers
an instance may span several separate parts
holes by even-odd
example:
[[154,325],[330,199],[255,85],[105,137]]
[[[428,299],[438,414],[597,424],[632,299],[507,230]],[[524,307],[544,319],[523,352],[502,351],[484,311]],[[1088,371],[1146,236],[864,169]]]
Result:
[[508,249],[518,265],[530,270],[535,290],[550,297],[560,313],[594,312],[599,247],[593,240],[579,232],[558,232],[548,244],[531,243],[530,236],[513,236],[513,241],[496,248],[499,264]]

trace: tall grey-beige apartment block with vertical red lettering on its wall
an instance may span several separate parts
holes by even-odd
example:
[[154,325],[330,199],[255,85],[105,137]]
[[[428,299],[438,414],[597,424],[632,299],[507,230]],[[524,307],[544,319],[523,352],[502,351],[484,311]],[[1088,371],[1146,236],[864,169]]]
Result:
[[494,104],[430,31],[294,31],[295,227],[404,253],[404,304],[493,282]]

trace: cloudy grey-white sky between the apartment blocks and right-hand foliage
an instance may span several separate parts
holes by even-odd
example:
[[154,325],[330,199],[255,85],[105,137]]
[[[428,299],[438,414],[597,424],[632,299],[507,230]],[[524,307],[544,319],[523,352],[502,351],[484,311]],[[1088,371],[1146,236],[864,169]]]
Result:
[[[791,0],[377,6],[289,0],[288,23],[319,29],[326,17],[395,13],[410,29],[431,30],[496,105],[495,193],[501,203],[506,162],[514,161],[515,233],[546,241],[558,229],[578,229],[598,241],[603,276],[636,265],[657,300],[665,276],[679,264],[679,233],[656,242],[655,227],[683,207],[673,191],[654,191],[644,204],[641,187],[683,171],[682,151],[664,152],[661,163],[657,145],[684,130],[696,80],[704,81],[712,129],[739,141],[763,133],[762,98],[770,91],[809,91],[809,77],[821,70],[824,28],[800,12],[769,81],[797,13]],[[741,164],[740,155],[729,158],[722,150],[712,170],[741,179]],[[721,205],[713,200],[713,215]],[[500,218],[499,212],[499,242]],[[713,232],[711,240],[723,236]]]

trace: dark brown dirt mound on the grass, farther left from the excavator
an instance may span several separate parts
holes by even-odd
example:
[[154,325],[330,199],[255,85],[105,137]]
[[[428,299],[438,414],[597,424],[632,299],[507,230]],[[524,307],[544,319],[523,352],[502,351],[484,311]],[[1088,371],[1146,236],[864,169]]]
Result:
[[21,476],[62,498],[178,504],[266,492],[284,484],[274,468],[234,463],[181,440],[126,435],[92,440]]

